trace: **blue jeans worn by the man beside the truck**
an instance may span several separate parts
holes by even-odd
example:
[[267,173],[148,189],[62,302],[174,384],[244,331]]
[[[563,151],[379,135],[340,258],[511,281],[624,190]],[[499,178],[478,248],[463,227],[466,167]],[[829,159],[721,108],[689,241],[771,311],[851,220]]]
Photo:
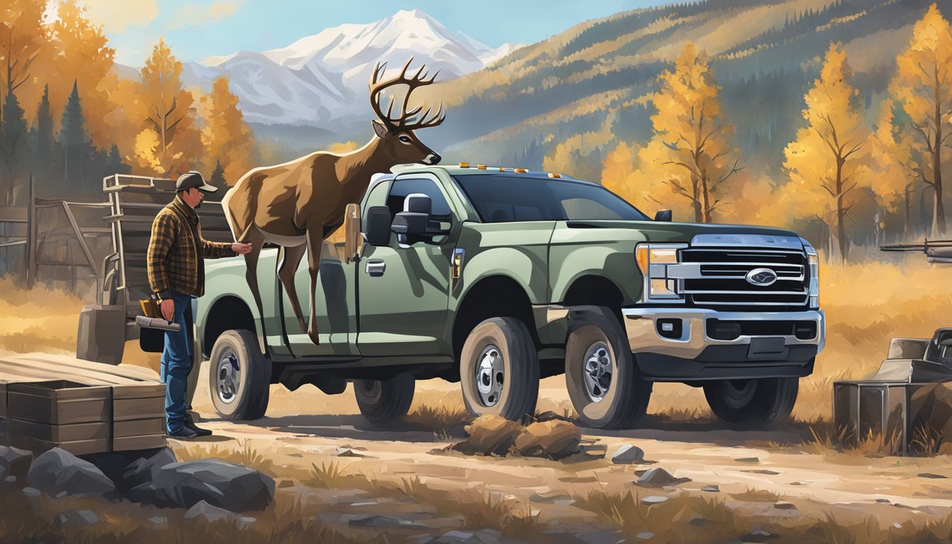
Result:
[[185,398],[188,372],[191,371],[191,342],[186,313],[191,314],[191,297],[172,291],[175,315],[172,318],[181,328],[166,331],[166,346],[162,351],[162,382],[166,384],[166,429],[175,433],[185,425]]

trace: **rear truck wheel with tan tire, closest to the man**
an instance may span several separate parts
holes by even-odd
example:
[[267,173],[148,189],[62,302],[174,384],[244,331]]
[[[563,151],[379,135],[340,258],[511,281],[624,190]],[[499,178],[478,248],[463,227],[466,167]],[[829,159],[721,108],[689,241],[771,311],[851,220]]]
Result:
[[254,332],[226,331],[215,340],[208,361],[208,387],[223,419],[248,421],[268,411],[271,361],[258,349]]

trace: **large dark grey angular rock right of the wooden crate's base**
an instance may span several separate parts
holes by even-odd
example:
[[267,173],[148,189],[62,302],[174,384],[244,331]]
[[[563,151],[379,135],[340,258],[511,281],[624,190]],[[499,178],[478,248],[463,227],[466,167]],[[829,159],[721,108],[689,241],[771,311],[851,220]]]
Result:
[[200,501],[231,512],[264,510],[274,499],[274,479],[221,459],[172,463],[160,468],[156,491],[183,508]]

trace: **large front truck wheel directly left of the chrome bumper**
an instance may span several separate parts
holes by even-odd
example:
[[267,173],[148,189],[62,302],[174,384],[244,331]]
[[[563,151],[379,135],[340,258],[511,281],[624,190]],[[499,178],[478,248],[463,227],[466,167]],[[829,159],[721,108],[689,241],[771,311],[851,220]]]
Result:
[[569,317],[565,387],[575,412],[588,427],[630,429],[645,415],[654,383],[642,379],[625,329],[601,306],[573,307]]

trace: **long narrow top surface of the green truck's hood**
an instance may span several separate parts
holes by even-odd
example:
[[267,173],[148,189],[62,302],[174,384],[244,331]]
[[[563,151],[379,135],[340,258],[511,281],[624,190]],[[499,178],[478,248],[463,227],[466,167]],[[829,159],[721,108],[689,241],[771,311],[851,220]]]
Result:
[[[789,236],[799,239],[796,232],[773,227],[752,225],[718,225],[705,223],[667,223],[658,221],[566,221],[566,229],[630,229],[644,236],[648,242],[690,242],[697,235],[705,234],[713,239],[723,237],[725,244],[731,243],[732,235],[760,235],[764,237]],[[618,231],[613,232],[617,234]],[[717,238],[715,238],[717,237]]]

